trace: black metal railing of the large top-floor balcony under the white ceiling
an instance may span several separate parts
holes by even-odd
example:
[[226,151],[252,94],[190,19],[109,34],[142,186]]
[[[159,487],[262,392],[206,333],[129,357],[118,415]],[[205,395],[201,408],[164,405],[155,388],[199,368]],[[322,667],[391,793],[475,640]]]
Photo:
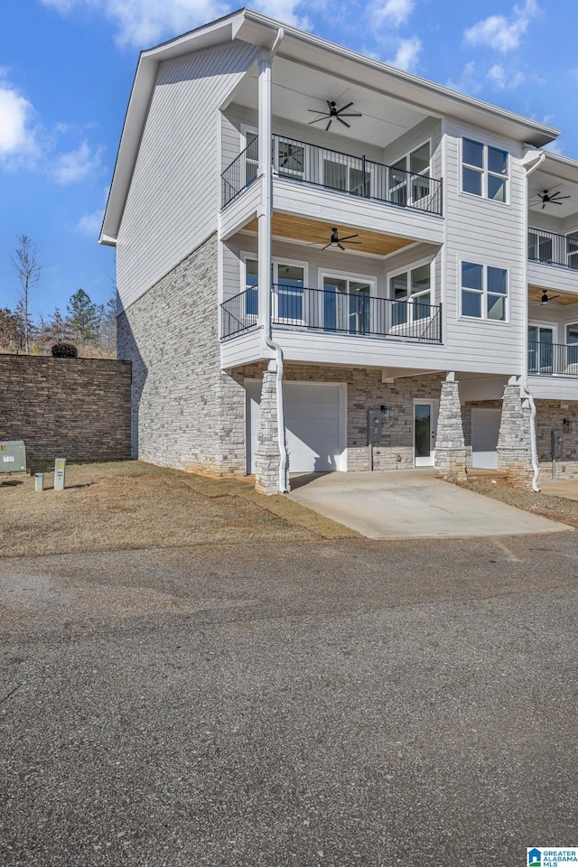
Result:
[[[413,174],[375,163],[365,156],[342,154],[281,135],[273,135],[271,150],[273,169],[280,178],[311,183],[358,199],[442,214],[442,182],[425,174]],[[257,173],[258,145],[254,139],[221,175],[223,207],[255,181]]]

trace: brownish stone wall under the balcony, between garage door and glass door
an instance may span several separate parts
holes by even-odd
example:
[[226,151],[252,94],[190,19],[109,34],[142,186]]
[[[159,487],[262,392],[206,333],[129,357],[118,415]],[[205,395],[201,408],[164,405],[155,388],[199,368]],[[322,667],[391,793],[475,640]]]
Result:
[[[243,377],[260,378],[264,367],[249,365],[240,372]],[[368,470],[368,409],[387,406],[391,421],[383,426],[381,445],[374,446],[373,467],[375,471],[406,470],[414,466],[414,399],[438,400],[442,374],[401,378],[390,384],[381,381],[380,369],[286,362],[284,380],[347,384],[348,471]]]

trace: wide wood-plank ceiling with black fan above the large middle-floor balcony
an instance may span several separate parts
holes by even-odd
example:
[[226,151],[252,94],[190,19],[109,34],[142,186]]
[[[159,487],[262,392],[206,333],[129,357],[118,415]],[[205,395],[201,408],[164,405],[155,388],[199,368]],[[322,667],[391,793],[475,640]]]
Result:
[[[252,219],[245,227],[248,231],[257,231],[257,220]],[[272,229],[275,238],[291,238],[294,241],[304,241],[312,247],[321,249],[324,244],[328,244],[331,238],[333,228],[338,229],[340,238],[347,235],[357,235],[356,241],[359,244],[354,244],[344,247],[348,253],[369,253],[372,256],[387,256],[389,253],[395,253],[396,250],[401,250],[403,247],[408,247],[414,244],[412,238],[396,238],[393,235],[383,235],[380,232],[370,232],[365,228],[355,228],[355,226],[344,226],[340,223],[337,227],[335,221],[320,219],[309,219],[303,217],[295,217],[292,214],[284,214],[281,211],[275,211],[273,214]],[[335,247],[335,253],[340,254],[342,251],[339,247]]]

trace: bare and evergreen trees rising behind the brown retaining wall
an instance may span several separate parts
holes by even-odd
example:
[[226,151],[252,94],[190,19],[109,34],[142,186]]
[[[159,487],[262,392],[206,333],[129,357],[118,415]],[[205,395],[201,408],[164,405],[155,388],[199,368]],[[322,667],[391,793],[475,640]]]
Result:
[[58,307],[48,316],[42,313],[36,322],[30,314],[33,290],[40,282],[42,267],[36,247],[26,235],[17,236],[11,262],[18,276],[18,303],[14,310],[0,308],[0,350],[34,355],[50,354],[59,342],[72,342],[80,355],[115,357],[117,352],[117,303],[112,297],[106,304],[93,303],[84,289],[70,296],[66,312]]

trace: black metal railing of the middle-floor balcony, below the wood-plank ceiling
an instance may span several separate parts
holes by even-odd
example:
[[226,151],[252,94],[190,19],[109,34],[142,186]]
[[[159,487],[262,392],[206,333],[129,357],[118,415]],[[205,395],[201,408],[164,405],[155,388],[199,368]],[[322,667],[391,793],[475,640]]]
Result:
[[[272,322],[302,331],[442,342],[442,306],[422,301],[393,301],[365,293],[340,293],[274,284]],[[221,304],[221,336],[231,337],[256,325],[257,290],[246,289]]]

